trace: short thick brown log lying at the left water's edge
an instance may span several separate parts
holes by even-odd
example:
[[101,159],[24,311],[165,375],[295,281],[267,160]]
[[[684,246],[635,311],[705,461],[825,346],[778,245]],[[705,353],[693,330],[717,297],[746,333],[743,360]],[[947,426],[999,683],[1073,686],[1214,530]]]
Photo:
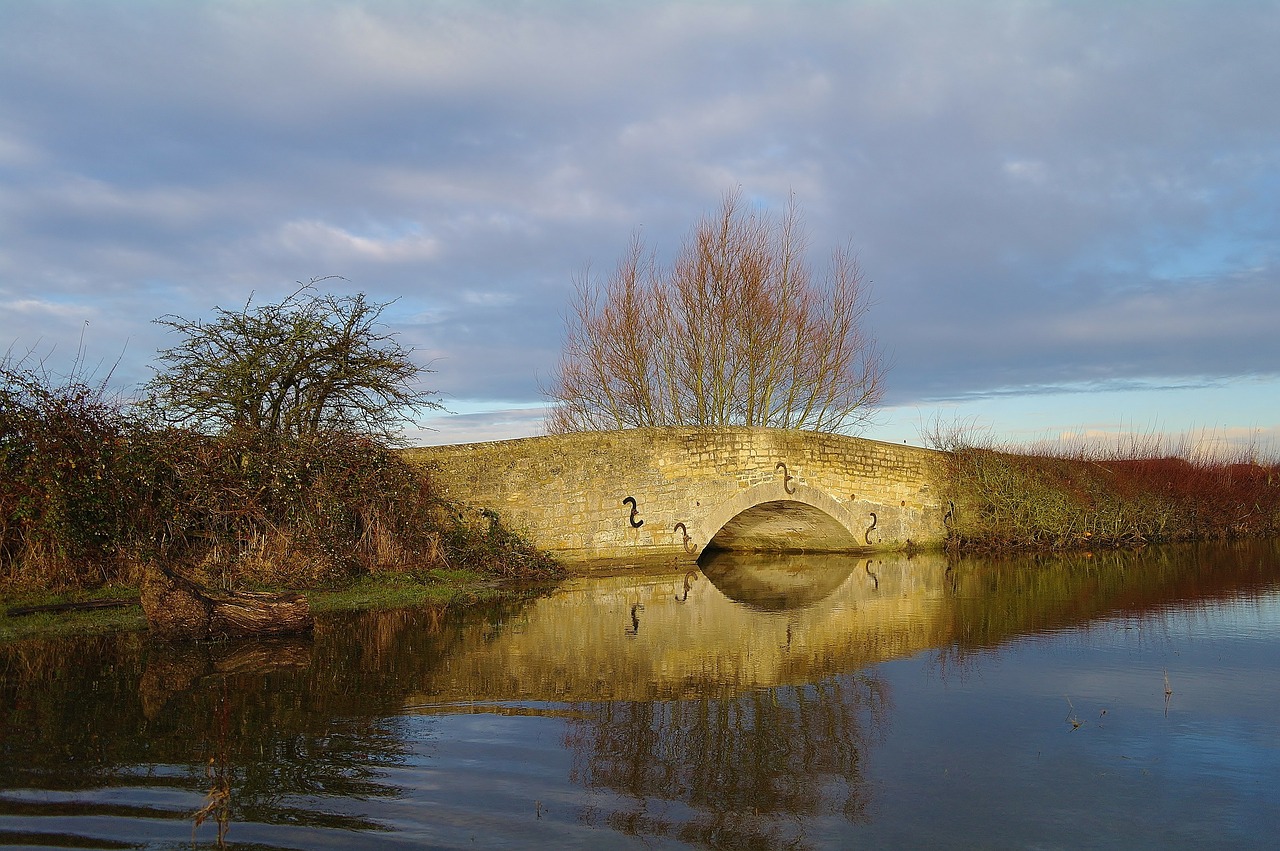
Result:
[[234,639],[310,632],[311,604],[301,594],[219,591],[173,568],[148,571],[142,610],[160,639]]

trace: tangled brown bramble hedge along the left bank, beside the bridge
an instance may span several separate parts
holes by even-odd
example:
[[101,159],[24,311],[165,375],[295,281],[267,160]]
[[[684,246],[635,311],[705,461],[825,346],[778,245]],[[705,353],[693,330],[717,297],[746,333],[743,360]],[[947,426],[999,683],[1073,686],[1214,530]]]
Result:
[[164,427],[102,386],[0,363],[0,587],[133,585],[157,562],[228,586],[556,571],[367,436]]

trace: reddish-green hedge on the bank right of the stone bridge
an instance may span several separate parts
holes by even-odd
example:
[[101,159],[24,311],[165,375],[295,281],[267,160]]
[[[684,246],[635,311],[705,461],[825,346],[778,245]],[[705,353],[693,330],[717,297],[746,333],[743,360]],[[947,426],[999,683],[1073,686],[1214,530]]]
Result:
[[947,482],[957,549],[1078,549],[1280,534],[1280,465],[1187,445],[1016,449],[954,434]]

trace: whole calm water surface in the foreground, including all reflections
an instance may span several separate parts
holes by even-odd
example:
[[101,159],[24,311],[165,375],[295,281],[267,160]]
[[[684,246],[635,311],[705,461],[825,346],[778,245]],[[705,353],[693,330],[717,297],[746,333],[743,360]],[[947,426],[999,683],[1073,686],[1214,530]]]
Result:
[[306,641],[0,646],[0,846],[219,822],[238,848],[1276,847],[1280,543],[717,561]]

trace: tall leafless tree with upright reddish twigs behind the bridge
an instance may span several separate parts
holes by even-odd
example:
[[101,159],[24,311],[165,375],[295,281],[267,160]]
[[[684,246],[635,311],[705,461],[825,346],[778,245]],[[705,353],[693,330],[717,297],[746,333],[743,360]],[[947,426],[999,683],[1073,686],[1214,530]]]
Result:
[[671,269],[637,238],[611,278],[582,275],[547,430],[864,426],[884,380],[867,282],[844,248],[819,283],[806,250],[794,202],[771,220],[733,192]]

